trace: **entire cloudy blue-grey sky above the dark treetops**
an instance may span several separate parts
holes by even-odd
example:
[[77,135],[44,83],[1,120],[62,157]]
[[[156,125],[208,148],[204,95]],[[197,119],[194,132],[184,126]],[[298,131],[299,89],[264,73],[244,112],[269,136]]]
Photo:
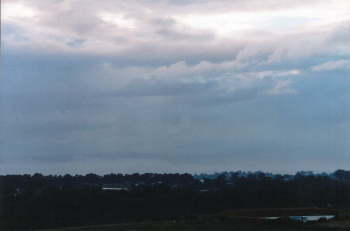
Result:
[[0,174],[350,166],[349,0],[2,0]]

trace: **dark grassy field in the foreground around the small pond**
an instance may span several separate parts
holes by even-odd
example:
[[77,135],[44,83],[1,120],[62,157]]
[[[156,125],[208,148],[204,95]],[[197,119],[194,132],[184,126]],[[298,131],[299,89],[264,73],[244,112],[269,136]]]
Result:
[[343,210],[322,208],[268,208],[229,210],[192,221],[143,222],[49,229],[44,231],[345,231],[350,230],[350,221],[327,221],[325,223],[284,223],[261,220],[265,216],[326,215]]

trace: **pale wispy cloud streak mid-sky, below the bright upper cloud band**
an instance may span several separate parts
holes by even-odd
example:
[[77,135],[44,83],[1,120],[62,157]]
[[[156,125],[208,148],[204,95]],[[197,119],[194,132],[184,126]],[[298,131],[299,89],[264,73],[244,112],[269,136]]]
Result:
[[[205,84],[217,83],[221,90],[234,92],[239,89],[250,88],[256,82],[279,81],[281,78],[290,78],[300,74],[299,69],[280,70],[269,69],[263,71],[244,70],[246,65],[236,61],[213,63],[202,61],[190,65],[184,61],[167,66],[128,66],[114,67],[104,63],[93,71],[83,72],[85,81],[92,89],[114,91],[130,88],[134,81],[150,81],[154,87],[157,84]],[[103,78],[96,79],[96,75]],[[266,78],[266,79],[264,79]],[[146,88],[146,86],[144,86]],[[284,93],[287,93],[285,90]],[[141,96],[143,96],[141,94]]]

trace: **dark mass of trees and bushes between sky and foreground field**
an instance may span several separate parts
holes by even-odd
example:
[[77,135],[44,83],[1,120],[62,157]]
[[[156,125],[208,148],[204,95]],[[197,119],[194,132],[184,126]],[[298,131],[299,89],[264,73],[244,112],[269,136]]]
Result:
[[[263,173],[247,177],[233,173],[229,180],[219,175],[202,183],[190,174],[62,177],[36,173],[0,176],[0,181],[1,230],[193,220],[228,209],[234,212],[224,219],[239,221],[241,217],[288,216],[291,211],[286,208],[290,207],[309,207],[312,215],[350,207],[350,182],[328,176],[299,174],[286,181]],[[306,215],[305,209],[300,211]]]

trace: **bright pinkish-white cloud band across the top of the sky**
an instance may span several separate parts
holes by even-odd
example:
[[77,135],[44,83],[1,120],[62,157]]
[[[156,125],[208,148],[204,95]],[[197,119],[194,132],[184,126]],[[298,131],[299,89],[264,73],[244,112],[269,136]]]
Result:
[[[2,43],[35,52],[122,57],[138,51],[136,55],[159,60],[164,54],[157,50],[162,49],[179,56],[192,52],[192,56],[203,57],[207,52],[209,58],[204,60],[211,60],[217,55],[213,51],[220,51],[224,45],[225,52],[232,53],[240,47],[237,61],[269,55],[268,61],[274,63],[344,51],[350,46],[350,42],[335,44],[327,40],[334,36],[330,31],[341,33],[335,29],[349,25],[350,6],[346,0],[308,4],[207,1],[182,6],[140,1],[102,4],[88,0],[84,5],[69,0],[4,1],[2,6],[2,25],[20,28],[20,35],[27,38],[18,41],[17,35],[1,35]],[[69,46],[67,37],[84,42]]]

